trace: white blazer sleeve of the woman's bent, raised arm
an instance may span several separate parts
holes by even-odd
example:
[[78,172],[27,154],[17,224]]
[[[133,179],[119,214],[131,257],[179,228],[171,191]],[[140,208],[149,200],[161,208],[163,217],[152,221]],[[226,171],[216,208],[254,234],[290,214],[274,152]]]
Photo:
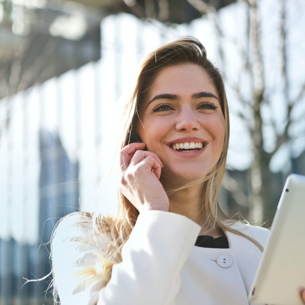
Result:
[[60,251],[59,242],[53,249],[53,264],[61,304],[173,305],[180,288],[181,269],[199,231],[200,226],[185,216],[163,211],[142,212],[122,248],[122,262],[113,265],[107,284],[105,279],[93,277],[79,281],[75,276],[75,270],[81,272],[86,264],[88,267],[94,262],[94,253],[106,249],[105,241],[101,240],[97,247],[91,245],[90,249],[86,246],[86,250],[79,247],[77,251],[67,246],[62,246],[65,250]]

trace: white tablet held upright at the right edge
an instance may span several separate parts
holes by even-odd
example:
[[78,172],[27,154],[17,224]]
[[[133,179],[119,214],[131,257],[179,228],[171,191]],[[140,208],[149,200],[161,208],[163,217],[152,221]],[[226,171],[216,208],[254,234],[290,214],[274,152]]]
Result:
[[305,289],[305,176],[291,174],[248,298],[252,304],[304,305],[302,289]]

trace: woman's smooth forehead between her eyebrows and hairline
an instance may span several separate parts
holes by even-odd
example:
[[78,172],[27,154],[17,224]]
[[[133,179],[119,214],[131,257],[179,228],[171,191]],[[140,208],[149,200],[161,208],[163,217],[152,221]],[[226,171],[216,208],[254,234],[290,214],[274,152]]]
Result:
[[206,71],[199,65],[186,63],[161,70],[148,91],[147,100],[158,94],[186,96],[197,92],[210,92],[219,97]]

